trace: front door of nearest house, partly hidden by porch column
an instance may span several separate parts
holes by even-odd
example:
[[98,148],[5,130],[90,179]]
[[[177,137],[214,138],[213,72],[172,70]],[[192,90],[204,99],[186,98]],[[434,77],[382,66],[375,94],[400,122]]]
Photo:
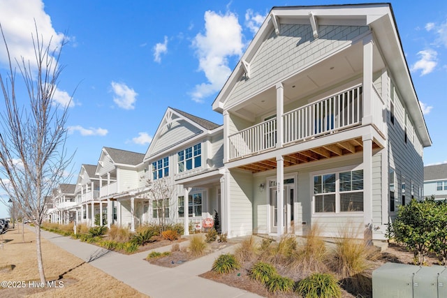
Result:
[[[293,179],[292,179],[293,180]],[[293,221],[293,198],[295,184],[284,184],[284,220],[281,223],[284,232],[291,232]],[[270,232],[276,233],[278,228],[278,198],[276,186],[270,187]]]

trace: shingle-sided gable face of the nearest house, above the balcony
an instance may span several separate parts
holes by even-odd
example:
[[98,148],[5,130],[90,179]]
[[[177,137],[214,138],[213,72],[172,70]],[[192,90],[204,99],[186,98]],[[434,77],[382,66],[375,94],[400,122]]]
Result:
[[279,36],[272,31],[264,40],[250,64],[251,76],[240,77],[226,107],[254,94],[257,90],[271,86],[281,77],[290,75],[314,61],[318,61],[332,50],[351,43],[367,32],[367,26],[321,25],[319,37],[314,39],[312,27],[304,24],[281,24]]

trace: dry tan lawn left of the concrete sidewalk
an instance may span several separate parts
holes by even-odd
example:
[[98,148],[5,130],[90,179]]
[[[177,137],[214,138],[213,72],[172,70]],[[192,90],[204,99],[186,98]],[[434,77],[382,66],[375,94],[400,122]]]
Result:
[[147,297],[42,238],[43,265],[47,281],[59,288],[29,287],[40,282],[36,260],[36,234],[22,227],[0,235],[0,281],[24,282],[24,288],[3,288],[0,297]]

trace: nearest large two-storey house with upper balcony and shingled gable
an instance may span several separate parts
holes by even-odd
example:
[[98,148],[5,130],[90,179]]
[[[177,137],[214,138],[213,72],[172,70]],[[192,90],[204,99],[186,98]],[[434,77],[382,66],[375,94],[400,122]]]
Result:
[[212,105],[222,230],[385,239],[432,144],[388,3],[274,7]]

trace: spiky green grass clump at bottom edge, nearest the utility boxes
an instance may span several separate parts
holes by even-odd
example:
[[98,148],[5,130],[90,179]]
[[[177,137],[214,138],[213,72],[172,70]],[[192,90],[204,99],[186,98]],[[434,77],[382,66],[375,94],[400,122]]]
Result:
[[342,290],[332,274],[312,274],[299,281],[295,291],[304,298],[342,297]]

